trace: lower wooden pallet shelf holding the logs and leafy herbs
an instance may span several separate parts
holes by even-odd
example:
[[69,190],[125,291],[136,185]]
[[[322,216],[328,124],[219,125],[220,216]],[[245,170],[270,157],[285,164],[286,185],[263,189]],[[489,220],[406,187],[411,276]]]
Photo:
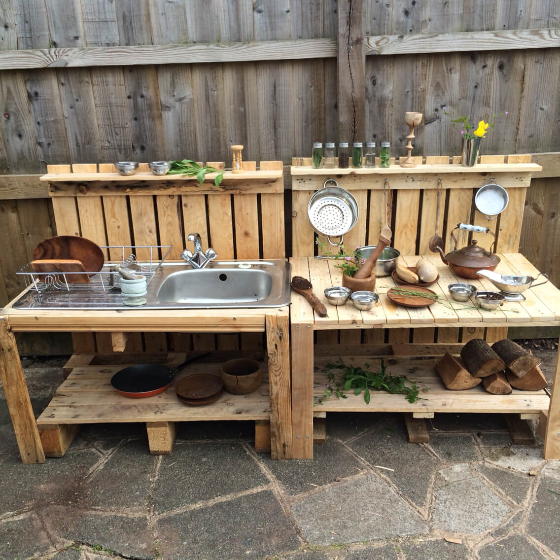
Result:
[[[328,381],[324,366],[333,358],[315,357],[314,401],[324,397],[324,390]],[[337,360],[338,358],[334,358]],[[544,390],[519,391],[514,389],[510,395],[492,395],[484,390],[482,385],[465,391],[451,391],[445,387],[433,366],[439,358],[418,357],[404,358],[398,356],[385,357],[388,373],[391,375],[405,375],[416,381],[421,389],[420,400],[409,403],[403,395],[391,395],[385,391],[371,391],[371,400],[366,404],[363,393],[354,395],[353,390],[344,391],[346,399],[336,396],[323,398],[320,404],[315,404],[314,412],[410,412],[426,416],[435,412],[474,412],[474,413],[520,413],[539,414],[541,410],[548,410],[549,396]],[[342,357],[347,365],[361,366],[369,363],[371,368],[379,367],[380,359],[372,356]],[[422,389],[427,388],[427,392]]]

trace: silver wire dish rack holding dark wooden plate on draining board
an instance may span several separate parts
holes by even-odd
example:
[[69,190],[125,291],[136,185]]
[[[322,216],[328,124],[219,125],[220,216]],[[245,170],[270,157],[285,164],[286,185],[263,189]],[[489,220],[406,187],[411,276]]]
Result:
[[[115,264],[120,264],[124,268],[130,269],[134,274],[142,274],[146,277],[146,283],[150,283],[156,270],[161,267],[164,260],[171,250],[171,245],[100,245],[100,249],[104,250],[105,254],[114,255],[121,251],[122,258],[120,260],[111,260],[105,262],[101,270],[91,272],[86,270],[86,274],[90,277],[87,283],[72,282],[72,276],[83,272],[36,272],[27,263],[21,267],[17,272],[17,276],[23,276],[25,284],[31,290],[36,292],[43,292],[45,290],[61,290],[61,291],[74,291],[74,290],[97,290],[106,292],[111,288],[120,286],[120,274],[111,270]],[[150,250],[150,258],[139,261],[136,258],[138,249]],[[160,259],[160,256],[161,259]]]

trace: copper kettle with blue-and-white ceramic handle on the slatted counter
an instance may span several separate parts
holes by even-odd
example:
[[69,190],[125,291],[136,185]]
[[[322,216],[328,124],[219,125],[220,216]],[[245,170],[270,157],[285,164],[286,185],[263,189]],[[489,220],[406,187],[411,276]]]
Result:
[[[494,237],[493,243],[490,245],[491,250],[488,252],[478,245],[478,241],[473,239],[470,245],[457,250],[457,238],[454,235],[455,230],[478,231],[491,234]],[[451,253],[444,254],[442,246],[444,241],[439,236],[433,236],[430,239],[430,250],[433,253],[439,253],[441,260],[451,269],[456,276],[463,278],[476,279],[479,278],[477,270],[494,270],[500,263],[500,257],[492,253],[492,245],[496,249],[496,235],[490,228],[483,226],[472,226],[469,223],[458,223],[451,231],[451,239],[455,242],[455,250]]]

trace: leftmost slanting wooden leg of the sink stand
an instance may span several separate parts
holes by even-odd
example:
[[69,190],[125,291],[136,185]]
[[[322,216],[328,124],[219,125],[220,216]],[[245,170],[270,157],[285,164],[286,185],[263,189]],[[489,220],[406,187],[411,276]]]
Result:
[[23,463],[44,463],[45,454],[31,408],[16,339],[6,317],[0,318],[0,379]]

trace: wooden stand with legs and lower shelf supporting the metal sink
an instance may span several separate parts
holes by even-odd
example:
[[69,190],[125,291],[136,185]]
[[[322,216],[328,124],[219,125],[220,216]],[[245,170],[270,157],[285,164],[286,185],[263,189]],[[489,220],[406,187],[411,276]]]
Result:
[[[146,422],[148,436],[152,434],[151,438],[154,441],[153,447],[151,442],[151,449],[155,450],[157,446],[161,446],[163,438],[167,441],[165,451],[172,445],[174,428],[171,424],[194,419],[250,419],[265,423],[269,420],[271,456],[276,459],[291,458],[291,380],[287,307],[199,311],[47,311],[17,310],[12,308],[12,304],[13,302],[2,310],[0,317],[0,379],[24,463],[43,463],[43,444],[48,452],[57,455],[57,450],[72,441],[77,431],[76,426],[81,423]],[[115,371],[124,367],[122,363],[110,365],[105,361],[104,365],[99,366],[87,360],[74,362],[76,367],[72,368],[68,379],[57,390],[49,407],[36,422],[13,335],[13,332],[36,330],[110,332],[115,344],[122,343],[119,333],[123,332],[125,335],[128,332],[150,333],[162,330],[183,333],[265,333],[268,379],[255,394],[240,397],[227,395],[207,407],[191,409],[177,401],[173,388],[148,399],[127,399],[115,393],[109,386],[109,380]],[[183,361],[182,357],[175,354],[171,361],[179,360],[177,363],[180,363]],[[143,361],[142,357],[140,361]],[[189,366],[189,372],[200,368],[216,373],[218,365],[192,365]],[[152,425],[154,423],[157,425]]]

